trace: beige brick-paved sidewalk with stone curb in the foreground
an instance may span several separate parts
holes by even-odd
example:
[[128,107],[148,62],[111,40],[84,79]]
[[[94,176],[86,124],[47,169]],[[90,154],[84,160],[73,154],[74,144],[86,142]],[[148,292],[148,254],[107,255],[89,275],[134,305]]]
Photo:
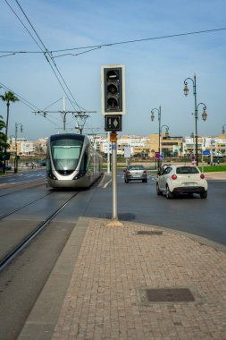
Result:
[[80,217],[19,340],[226,339],[226,247],[108,222]]

